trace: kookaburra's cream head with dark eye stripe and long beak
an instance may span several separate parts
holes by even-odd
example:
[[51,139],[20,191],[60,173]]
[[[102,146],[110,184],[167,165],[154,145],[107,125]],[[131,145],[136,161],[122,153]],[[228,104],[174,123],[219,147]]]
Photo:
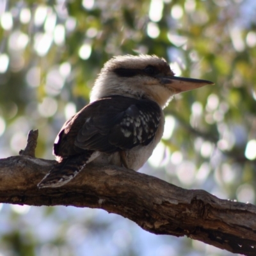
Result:
[[105,63],[93,86],[91,99],[123,95],[154,100],[164,108],[172,96],[200,88],[210,81],[176,77],[170,65],[157,56],[116,56]]

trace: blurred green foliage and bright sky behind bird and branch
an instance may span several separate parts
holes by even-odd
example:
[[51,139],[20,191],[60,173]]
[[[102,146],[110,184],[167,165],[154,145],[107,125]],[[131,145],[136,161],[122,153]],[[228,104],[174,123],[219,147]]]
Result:
[[[176,76],[216,85],[172,100],[163,140],[141,172],[255,203],[255,1],[1,0],[0,40],[1,158],[39,129],[36,156],[53,159],[56,134],[88,103],[102,65],[119,54],[156,54]],[[231,253],[149,234],[97,209],[0,204],[0,255]]]

